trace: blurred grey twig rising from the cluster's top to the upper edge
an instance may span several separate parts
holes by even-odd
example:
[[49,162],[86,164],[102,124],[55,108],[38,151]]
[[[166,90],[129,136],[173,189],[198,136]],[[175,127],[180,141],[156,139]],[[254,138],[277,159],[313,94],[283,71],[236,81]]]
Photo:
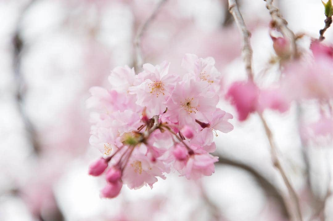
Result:
[[159,12],[160,8],[163,6],[164,3],[166,3],[167,0],[161,0],[157,6],[155,7],[152,14],[147,18],[147,20],[139,27],[137,34],[134,39],[134,50],[135,50],[135,61],[134,61],[134,68],[136,72],[139,72],[142,69],[143,65],[143,57],[141,52],[141,38],[145,31],[147,30],[148,26],[152,23],[152,21],[155,19],[157,13]]

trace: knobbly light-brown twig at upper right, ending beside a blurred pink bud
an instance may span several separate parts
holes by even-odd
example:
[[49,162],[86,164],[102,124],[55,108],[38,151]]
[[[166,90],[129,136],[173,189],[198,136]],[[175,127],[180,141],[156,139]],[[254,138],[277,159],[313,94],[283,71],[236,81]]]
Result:
[[283,34],[283,36],[290,40],[291,58],[297,58],[298,53],[295,34],[287,27],[288,22],[282,17],[279,9],[273,5],[273,0],[264,1],[266,1],[266,8],[272,17],[274,26]]

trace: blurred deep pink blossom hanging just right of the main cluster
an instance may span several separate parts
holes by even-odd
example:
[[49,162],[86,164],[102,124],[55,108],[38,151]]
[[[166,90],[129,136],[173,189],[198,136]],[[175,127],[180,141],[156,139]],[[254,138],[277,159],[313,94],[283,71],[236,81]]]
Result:
[[259,89],[252,81],[237,81],[229,87],[226,98],[235,105],[238,119],[244,121],[256,110],[258,95]]

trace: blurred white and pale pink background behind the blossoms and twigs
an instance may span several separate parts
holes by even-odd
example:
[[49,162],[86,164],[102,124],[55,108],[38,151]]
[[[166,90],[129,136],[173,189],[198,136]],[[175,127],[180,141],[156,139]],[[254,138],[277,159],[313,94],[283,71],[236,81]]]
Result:
[[[237,1],[252,33],[253,68],[259,84],[274,81],[279,65],[263,0]],[[134,64],[133,40],[158,0],[0,0],[0,220],[289,220],[287,194],[271,163],[257,115],[215,137],[220,157],[200,182],[176,172],[154,184],[102,199],[101,180],[88,175],[100,152],[89,145],[91,86],[108,87],[118,65]],[[320,0],[275,0],[302,44],[324,26]],[[325,33],[332,42],[333,31]],[[227,0],[167,0],[142,37],[145,62],[171,62],[179,71],[185,53],[212,56],[225,88],[246,79],[241,40]],[[221,95],[223,96],[223,95]],[[288,112],[265,111],[283,167],[298,193],[304,220],[333,220],[331,142],[305,149],[299,117],[318,119],[311,101]],[[322,208],[326,199],[325,208]],[[316,214],[319,212],[318,214]]]

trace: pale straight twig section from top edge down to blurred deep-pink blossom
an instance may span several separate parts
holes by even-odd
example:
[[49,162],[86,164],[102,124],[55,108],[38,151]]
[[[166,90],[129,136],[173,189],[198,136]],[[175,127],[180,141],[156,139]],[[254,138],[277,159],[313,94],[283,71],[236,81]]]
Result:
[[242,56],[245,63],[246,74],[251,80],[253,80],[252,47],[250,43],[251,33],[246,29],[244,19],[242,17],[242,14],[240,14],[236,0],[228,0],[228,3],[229,3],[229,12],[234,17],[239,32],[242,35],[242,43],[243,43]]

